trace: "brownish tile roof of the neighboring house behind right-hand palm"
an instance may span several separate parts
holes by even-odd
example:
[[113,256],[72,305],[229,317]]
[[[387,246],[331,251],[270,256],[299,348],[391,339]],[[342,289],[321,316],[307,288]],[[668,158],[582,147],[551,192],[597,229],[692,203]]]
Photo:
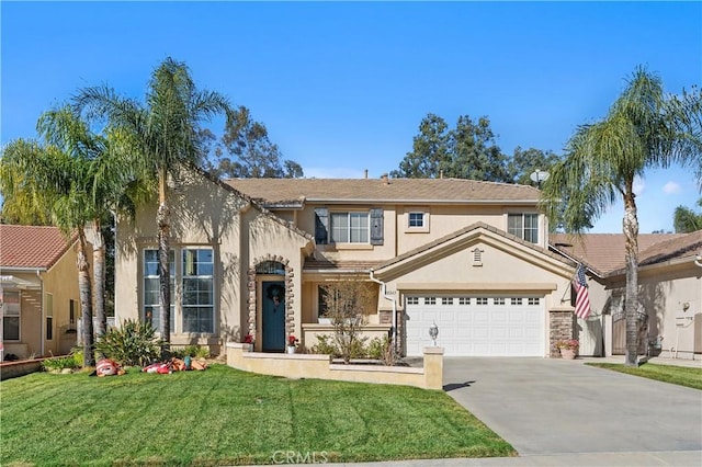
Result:
[[[658,243],[675,241],[686,234],[639,234],[639,263],[643,253]],[[582,262],[599,276],[624,265],[625,237],[623,234],[584,234],[575,237],[567,234],[551,234],[548,243],[555,250]]]

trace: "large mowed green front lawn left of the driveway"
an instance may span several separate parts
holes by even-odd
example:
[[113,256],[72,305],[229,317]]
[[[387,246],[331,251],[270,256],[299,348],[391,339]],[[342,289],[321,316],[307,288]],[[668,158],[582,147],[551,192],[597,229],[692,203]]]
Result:
[[[514,456],[442,391],[205,372],[0,383],[0,465],[196,465]],[[305,457],[307,456],[307,457]]]

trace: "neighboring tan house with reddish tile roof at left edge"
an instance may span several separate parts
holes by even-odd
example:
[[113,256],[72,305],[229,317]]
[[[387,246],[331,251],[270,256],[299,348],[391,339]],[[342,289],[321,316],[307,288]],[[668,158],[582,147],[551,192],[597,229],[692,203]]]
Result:
[[56,227],[0,225],[4,356],[60,355],[76,345],[80,318],[71,248],[76,241]]

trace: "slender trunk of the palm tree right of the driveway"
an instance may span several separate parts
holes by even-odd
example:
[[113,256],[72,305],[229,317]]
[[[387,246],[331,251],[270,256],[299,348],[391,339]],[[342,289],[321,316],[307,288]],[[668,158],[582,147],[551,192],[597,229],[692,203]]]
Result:
[[629,187],[624,195],[623,231],[626,238],[626,353],[624,366],[638,366],[638,218],[634,193]]

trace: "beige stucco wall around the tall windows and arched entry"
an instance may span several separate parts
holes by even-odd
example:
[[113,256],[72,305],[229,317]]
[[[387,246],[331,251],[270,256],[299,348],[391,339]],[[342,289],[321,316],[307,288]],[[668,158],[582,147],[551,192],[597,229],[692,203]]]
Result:
[[[171,206],[171,248],[211,247],[215,263],[215,332],[182,332],[182,315],[177,305],[173,344],[210,345],[219,353],[225,342],[240,341],[248,331],[248,271],[269,255],[285,258],[297,272],[294,296],[302,296],[302,250],[308,240],[271,219],[236,193],[197,173],[183,174],[169,192]],[[143,307],[140,283],[143,251],[157,248],[156,201],[138,209],[135,220],[122,218],[117,227],[115,259],[115,316],[117,322],[138,319]],[[179,258],[176,259],[177,272]],[[171,292],[178,304],[180,284]],[[299,316],[301,300],[294,303]],[[297,319],[299,322],[299,319]],[[298,328],[301,329],[301,328]]]

